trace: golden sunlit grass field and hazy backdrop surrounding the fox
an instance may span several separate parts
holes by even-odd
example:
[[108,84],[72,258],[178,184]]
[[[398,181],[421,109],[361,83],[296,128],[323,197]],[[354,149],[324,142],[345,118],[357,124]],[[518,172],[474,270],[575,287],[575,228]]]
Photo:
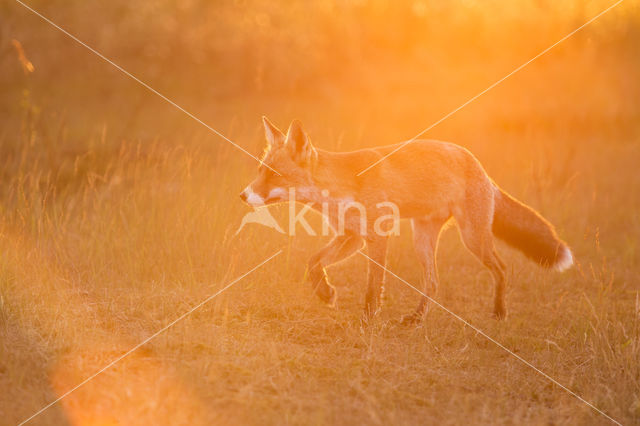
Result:
[[[562,3],[29,4],[259,155],[262,114],[323,149],[410,138],[611,4]],[[250,157],[20,4],[0,12],[1,424],[279,250],[31,424],[611,423],[442,309],[401,326],[418,295],[393,276],[363,327],[361,256],[330,269],[325,307],[303,276],[327,238],[235,235]],[[496,321],[452,228],[438,301],[622,424],[640,424],[639,40],[627,0],[425,135],[469,148],[576,259],[559,274],[499,245]],[[408,224],[388,267],[420,281]]]

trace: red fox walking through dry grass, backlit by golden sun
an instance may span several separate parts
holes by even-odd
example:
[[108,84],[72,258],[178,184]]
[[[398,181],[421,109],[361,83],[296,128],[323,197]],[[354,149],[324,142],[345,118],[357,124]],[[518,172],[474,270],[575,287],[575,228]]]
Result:
[[[449,222],[456,224],[464,246],[493,277],[496,319],[507,316],[507,278],[494,238],[541,267],[561,272],[573,264],[571,249],[553,225],[501,189],[462,146],[420,139],[397,152],[400,144],[332,152],[316,148],[299,120],[291,122],[286,135],[264,116],[262,122],[267,145],[256,178],[240,193],[242,201],[252,207],[285,203],[291,201],[290,194],[295,190],[295,201],[322,210],[334,230],[338,229],[337,213],[344,211],[341,206],[345,202],[357,202],[368,213],[363,226],[362,221],[354,220],[362,212],[352,212],[343,220],[340,232],[335,232],[333,239],[309,258],[305,280],[329,306],[335,306],[337,291],[327,268],[366,246],[364,319],[379,312],[389,234],[372,231],[380,213],[376,206],[382,202],[393,203],[400,219],[411,221],[413,243],[422,267],[422,296],[415,311],[401,319],[404,324],[422,322],[430,301],[435,300],[439,286],[438,240]],[[385,158],[392,151],[393,155]],[[383,158],[376,167],[357,175]]]

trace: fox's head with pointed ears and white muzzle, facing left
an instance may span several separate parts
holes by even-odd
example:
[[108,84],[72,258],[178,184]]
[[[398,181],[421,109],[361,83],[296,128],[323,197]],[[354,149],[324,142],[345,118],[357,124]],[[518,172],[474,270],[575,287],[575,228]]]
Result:
[[262,117],[267,147],[258,167],[258,176],[240,193],[250,206],[287,201],[290,188],[313,186],[312,172],[318,159],[302,123],[293,120],[286,136]]

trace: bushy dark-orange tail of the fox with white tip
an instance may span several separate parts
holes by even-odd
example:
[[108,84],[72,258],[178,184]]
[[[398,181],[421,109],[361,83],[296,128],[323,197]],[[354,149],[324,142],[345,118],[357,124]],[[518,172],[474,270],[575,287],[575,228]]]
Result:
[[543,267],[564,271],[573,265],[567,243],[538,212],[495,187],[493,234]]

